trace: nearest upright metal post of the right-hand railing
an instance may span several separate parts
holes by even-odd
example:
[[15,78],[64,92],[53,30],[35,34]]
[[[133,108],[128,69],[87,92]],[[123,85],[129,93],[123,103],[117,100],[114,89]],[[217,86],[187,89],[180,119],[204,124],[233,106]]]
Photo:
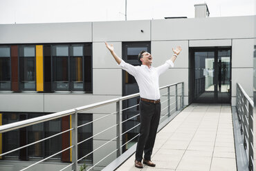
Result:
[[[248,126],[248,134],[249,134],[249,138],[248,138],[248,147],[249,147],[249,170],[253,170],[253,132],[251,130],[253,130],[253,106],[250,105],[250,102],[248,101],[248,106],[249,106],[249,126]],[[253,146],[252,146],[253,145]]]

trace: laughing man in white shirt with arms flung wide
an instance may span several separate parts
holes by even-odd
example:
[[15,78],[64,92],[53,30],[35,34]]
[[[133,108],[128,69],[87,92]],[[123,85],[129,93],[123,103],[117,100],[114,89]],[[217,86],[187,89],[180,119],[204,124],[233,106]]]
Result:
[[172,48],[172,51],[174,52],[172,58],[167,60],[162,66],[154,68],[152,67],[153,57],[149,52],[145,52],[145,50],[138,54],[138,61],[142,65],[131,66],[131,64],[125,63],[125,61],[122,61],[122,59],[116,55],[113,51],[113,45],[109,46],[106,42],[105,44],[118,65],[135,77],[140,90],[140,135],[138,136],[136,148],[135,167],[143,168],[143,164],[141,163],[143,159],[143,150],[143,163],[154,167],[156,164],[152,163],[151,155],[161,113],[158,77],[170,66],[174,67],[174,61],[181,52],[181,47],[178,46],[176,50]]

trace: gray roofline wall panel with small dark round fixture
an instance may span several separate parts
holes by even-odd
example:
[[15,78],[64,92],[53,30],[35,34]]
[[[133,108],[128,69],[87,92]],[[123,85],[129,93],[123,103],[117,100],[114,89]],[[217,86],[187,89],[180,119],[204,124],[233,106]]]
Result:
[[94,22],[93,41],[150,41],[150,22],[149,20]]

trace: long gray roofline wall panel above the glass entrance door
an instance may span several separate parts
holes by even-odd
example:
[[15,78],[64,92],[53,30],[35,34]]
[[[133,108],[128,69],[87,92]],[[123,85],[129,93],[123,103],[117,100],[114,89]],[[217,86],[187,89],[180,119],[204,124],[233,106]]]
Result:
[[152,41],[250,38],[254,37],[254,19],[255,16],[152,20]]

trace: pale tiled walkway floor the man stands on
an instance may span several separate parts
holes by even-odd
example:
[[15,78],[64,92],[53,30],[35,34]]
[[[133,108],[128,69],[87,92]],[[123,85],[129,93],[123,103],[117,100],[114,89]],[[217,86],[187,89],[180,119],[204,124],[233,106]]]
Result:
[[236,171],[230,105],[189,105],[158,132],[152,154],[155,168],[135,168],[134,159],[135,154],[118,170]]

